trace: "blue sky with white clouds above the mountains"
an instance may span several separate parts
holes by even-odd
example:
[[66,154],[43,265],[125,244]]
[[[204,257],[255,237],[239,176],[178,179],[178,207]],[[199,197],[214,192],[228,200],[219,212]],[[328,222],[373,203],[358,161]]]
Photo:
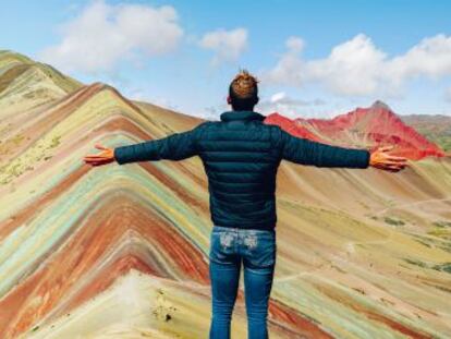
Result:
[[216,119],[240,68],[267,114],[331,118],[376,99],[451,114],[449,1],[2,1],[1,49],[84,83]]

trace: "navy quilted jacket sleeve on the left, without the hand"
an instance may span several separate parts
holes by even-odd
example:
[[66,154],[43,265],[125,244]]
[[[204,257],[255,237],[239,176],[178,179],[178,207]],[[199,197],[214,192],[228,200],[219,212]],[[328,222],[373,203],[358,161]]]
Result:
[[159,140],[117,147],[114,148],[114,158],[119,165],[123,165],[161,159],[182,160],[196,156],[196,140],[203,124],[191,131],[174,133]]

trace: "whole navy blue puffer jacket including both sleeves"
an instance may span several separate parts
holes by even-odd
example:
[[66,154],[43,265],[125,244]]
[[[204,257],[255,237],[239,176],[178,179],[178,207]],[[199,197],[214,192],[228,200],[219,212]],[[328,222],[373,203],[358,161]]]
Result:
[[255,111],[227,111],[191,131],[114,148],[120,165],[199,156],[208,177],[214,225],[276,227],[276,175],[282,159],[316,167],[367,168],[366,149],[331,146],[265,124]]

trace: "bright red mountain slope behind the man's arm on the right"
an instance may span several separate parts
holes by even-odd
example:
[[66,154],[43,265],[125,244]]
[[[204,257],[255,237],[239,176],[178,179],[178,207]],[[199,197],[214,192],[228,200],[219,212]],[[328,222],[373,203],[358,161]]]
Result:
[[337,146],[374,149],[378,146],[393,145],[392,154],[411,160],[446,156],[439,146],[406,125],[381,101],[376,101],[368,108],[356,108],[330,120],[291,120],[275,112],[266,118],[265,123],[280,125],[284,131],[298,137]]

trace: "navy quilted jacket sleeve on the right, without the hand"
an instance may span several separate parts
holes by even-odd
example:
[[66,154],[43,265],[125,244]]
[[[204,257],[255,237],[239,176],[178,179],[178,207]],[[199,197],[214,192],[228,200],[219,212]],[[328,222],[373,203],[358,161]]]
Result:
[[301,138],[281,131],[282,159],[316,167],[367,168],[370,153],[367,149],[345,148]]

